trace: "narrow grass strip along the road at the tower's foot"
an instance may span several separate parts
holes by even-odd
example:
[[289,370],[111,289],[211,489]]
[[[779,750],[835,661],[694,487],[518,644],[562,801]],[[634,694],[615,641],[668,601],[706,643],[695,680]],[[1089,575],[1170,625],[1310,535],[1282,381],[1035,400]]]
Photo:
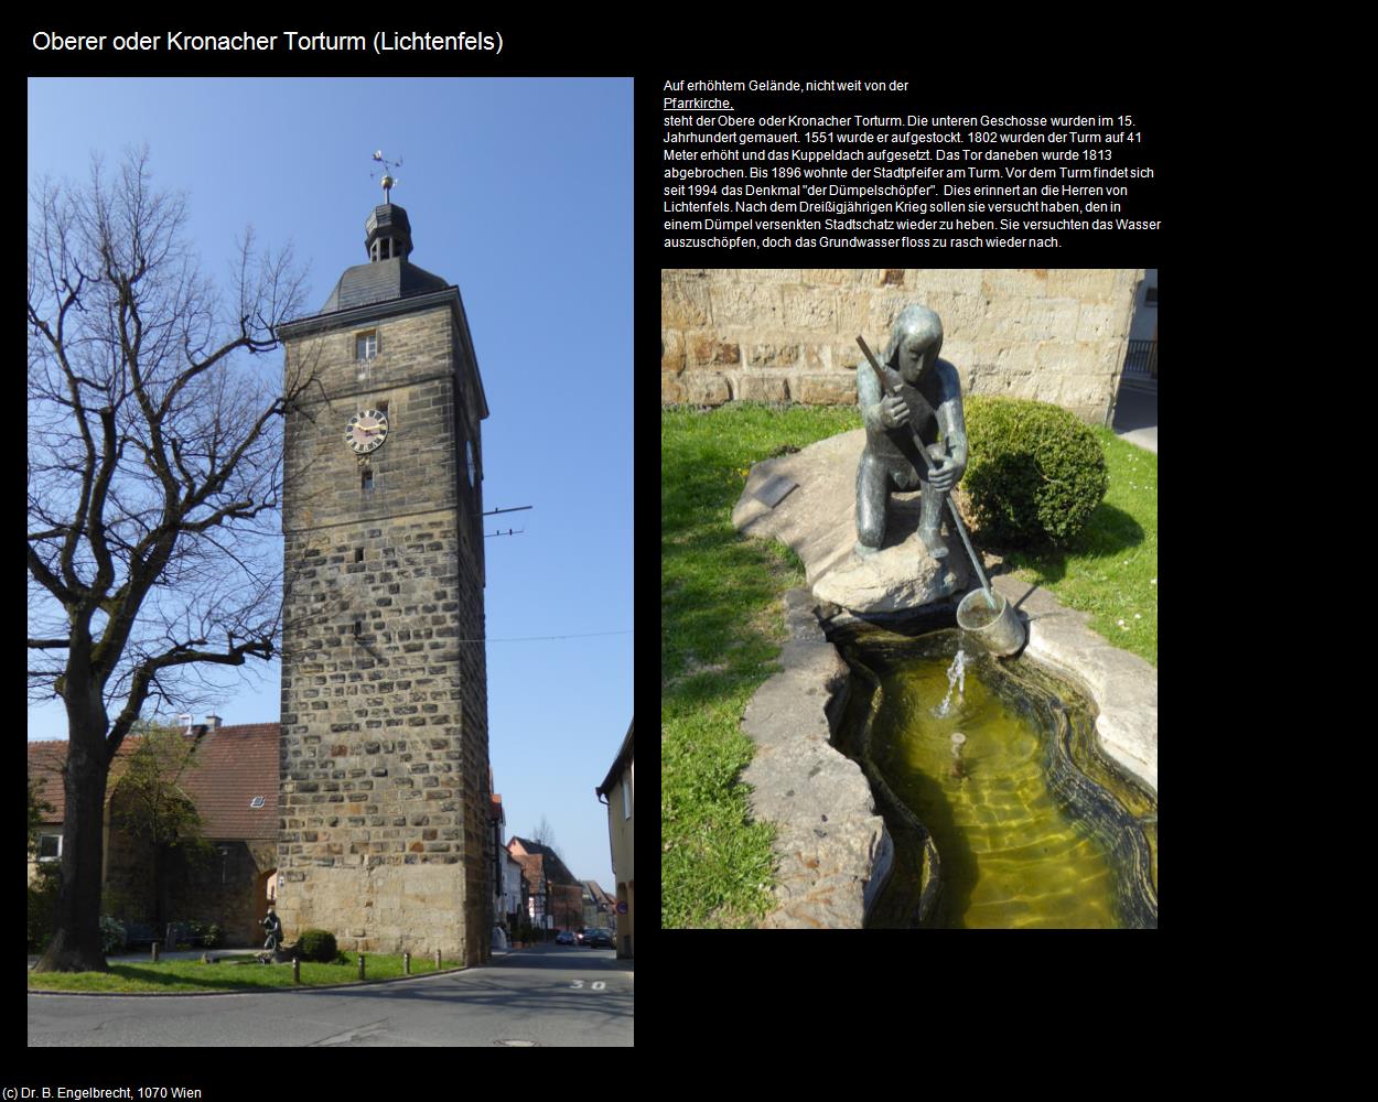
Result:
[[[357,984],[358,957],[344,955],[347,964],[314,964],[302,961],[302,986],[328,984]],[[441,960],[441,971],[463,967],[462,960]],[[435,957],[412,957],[412,975],[435,971]],[[367,981],[395,979],[402,975],[402,957],[364,955]],[[192,990],[254,990],[256,988],[291,988],[291,964],[233,964],[220,960],[203,964],[200,960],[160,960],[157,964],[112,964],[109,973],[29,973],[30,990],[92,990],[92,992],[164,992],[176,995]]]

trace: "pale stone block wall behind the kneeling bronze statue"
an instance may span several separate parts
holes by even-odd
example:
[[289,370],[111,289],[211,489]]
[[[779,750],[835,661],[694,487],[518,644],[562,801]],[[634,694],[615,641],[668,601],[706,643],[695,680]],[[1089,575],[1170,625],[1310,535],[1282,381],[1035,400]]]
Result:
[[911,303],[943,318],[967,394],[1053,402],[1105,424],[1144,269],[666,269],[663,404],[847,405],[865,337]]

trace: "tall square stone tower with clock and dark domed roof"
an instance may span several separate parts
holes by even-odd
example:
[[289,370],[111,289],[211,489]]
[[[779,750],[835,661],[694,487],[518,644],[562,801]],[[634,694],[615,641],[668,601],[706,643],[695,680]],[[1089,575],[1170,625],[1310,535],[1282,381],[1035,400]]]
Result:
[[408,258],[391,202],[369,260],[282,325],[278,915],[288,942],[488,959],[482,449],[459,289]]

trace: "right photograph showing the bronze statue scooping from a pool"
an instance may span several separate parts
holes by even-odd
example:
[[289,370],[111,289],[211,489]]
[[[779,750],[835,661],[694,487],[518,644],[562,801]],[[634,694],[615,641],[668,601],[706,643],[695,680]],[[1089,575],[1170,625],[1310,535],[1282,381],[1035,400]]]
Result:
[[661,926],[1158,928],[1158,270],[661,271]]

